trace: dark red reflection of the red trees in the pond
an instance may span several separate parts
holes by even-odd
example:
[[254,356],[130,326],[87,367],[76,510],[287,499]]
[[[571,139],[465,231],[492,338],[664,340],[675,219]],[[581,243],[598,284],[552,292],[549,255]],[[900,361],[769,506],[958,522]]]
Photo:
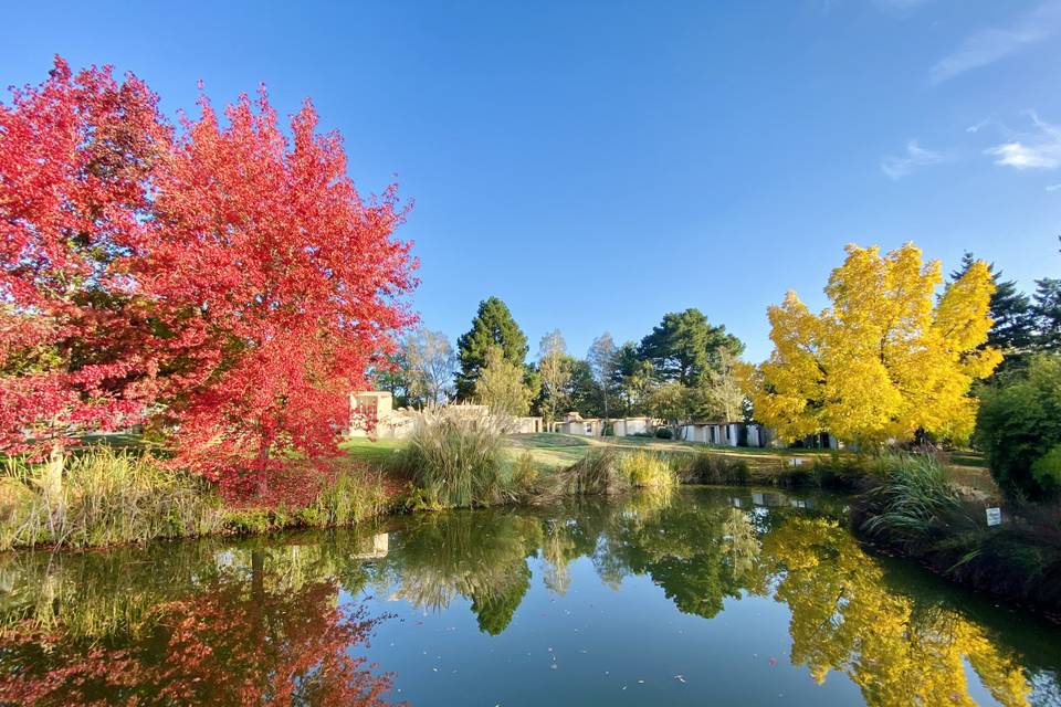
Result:
[[337,606],[330,582],[284,595],[260,589],[220,587],[160,605],[149,630],[103,645],[39,632],[9,636],[0,644],[0,701],[384,704],[390,677],[350,655],[380,619]]

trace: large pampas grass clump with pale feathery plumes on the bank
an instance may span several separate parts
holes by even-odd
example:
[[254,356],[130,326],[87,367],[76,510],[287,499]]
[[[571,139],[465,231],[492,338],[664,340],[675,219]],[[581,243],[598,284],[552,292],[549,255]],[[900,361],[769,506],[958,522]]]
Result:
[[401,467],[429,506],[487,506],[502,490],[503,430],[461,405],[418,413]]

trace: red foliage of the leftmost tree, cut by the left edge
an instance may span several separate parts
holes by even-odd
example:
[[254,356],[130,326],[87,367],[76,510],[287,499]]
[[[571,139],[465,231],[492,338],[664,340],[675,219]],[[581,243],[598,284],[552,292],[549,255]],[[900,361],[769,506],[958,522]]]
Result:
[[[0,105],[0,449],[135,421],[154,393],[126,265],[169,148],[156,97],[61,59]],[[29,432],[29,434],[27,434]]]

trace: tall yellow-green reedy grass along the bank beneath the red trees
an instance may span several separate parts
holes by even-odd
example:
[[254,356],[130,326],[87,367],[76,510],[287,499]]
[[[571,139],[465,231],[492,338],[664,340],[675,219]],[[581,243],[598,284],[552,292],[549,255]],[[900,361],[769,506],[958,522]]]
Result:
[[225,502],[202,478],[165,468],[143,450],[93,445],[69,457],[56,495],[41,465],[8,458],[0,467],[0,550],[345,526],[393,506],[393,484],[363,466],[297,481],[295,503]]

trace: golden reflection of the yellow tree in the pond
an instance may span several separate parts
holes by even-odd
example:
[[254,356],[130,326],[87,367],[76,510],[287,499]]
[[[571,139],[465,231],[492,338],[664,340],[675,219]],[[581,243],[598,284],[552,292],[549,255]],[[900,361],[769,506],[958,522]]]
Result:
[[915,611],[890,592],[880,566],[837,523],[792,518],[768,534],[764,555],[779,564],[776,598],[792,613],[792,662],[819,683],[840,671],[869,705],[975,705],[967,659],[1004,705],[1027,705],[1021,668],[984,632],[943,608]]

